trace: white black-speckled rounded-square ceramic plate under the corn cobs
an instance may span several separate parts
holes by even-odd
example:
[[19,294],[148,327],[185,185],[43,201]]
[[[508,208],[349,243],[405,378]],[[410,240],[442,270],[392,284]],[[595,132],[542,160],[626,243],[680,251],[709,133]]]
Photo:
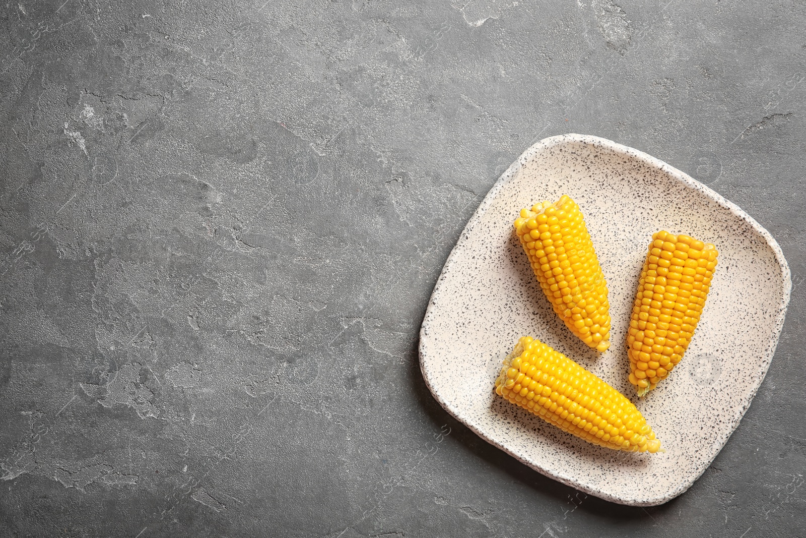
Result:
[[[521,207],[562,194],[582,207],[607,278],[605,353],[551,311],[513,234]],[[639,400],[627,380],[625,334],[646,245],[660,229],[715,244],[719,265],[683,362]],[[521,155],[467,223],[422,323],[420,365],[442,407],[526,465],[615,503],[652,506],[687,490],[736,429],[767,373],[790,289],[769,232],[707,186],[609,140],[554,136]],[[667,452],[596,447],[497,397],[501,361],[527,335],[626,394]]]

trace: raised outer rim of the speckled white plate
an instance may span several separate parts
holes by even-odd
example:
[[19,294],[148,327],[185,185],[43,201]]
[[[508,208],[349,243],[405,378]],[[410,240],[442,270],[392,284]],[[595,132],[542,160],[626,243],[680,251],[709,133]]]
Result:
[[[490,439],[488,436],[484,435],[483,432],[480,432],[479,428],[476,427],[476,424],[467,421],[461,418],[460,414],[461,411],[458,409],[454,409],[449,402],[442,398],[442,396],[438,393],[438,390],[434,388],[432,384],[426,367],[426,362],[428,361],[428,353],[426,351],[426,340],[428,338],[428,332],[430,328],[430,321],[433,316],[433,309],[436,307],[439,294],[442,288],[442,281],[444,280],[446,274],[450,271],[451,265],[453,265],[454,255],[457,252],[457,249],[462,246],[467,241],[468,231],[472,230],[476,227],[476,223],[478,223],[481,217],[487,212],[489,206],[492,204],[492,201],[496,198],[499,191],[506,186],[510,181],[513,181],[517,171],[521,169],[521,166],[526,165],[526,163],[540,151],[544,151],[546,149],[550,149],[552,147],[559,146],[561,144],[568,144],[568,143],[584,143],[584,144],[592,144],[596,147],[601,148],[608,148],[613,150],[613,152],[621,153],[627,155],[631,158],[634,158],[638,161],[643,161],[646,165],[650,165],[655,169],[660,169],[664,173],[667,173],[668,176],[671,176],[676,181],[683,183],[685,186],[688,186],[694,190],[700,191],[706,197],[713,200],[713,202],[717,202],[720,206],[725,209],[728,209],[733,215],[736,215],[739,219],[746,221],[746,223],[750,224],[753,229],[767,241],[767,244],[770,246],[772,251],[775,253],[775,260],[778,261],[781,267],[781,273],[783,277],[783,295],[781,297],[781,301],[778,304],[778,316],[775,319],[775,329],[772,332],[772,335],[767,340],[769,357],[767,357],[767,361],[765,365],[762,365],[761,377],[758,380],[758,384],[754,387],[754,389],[748,394],[748,396],[742,401],[742,410],[737,415],[737,418],[734,420],[733,424],[730,425],[728,429],[725,430],[725,434],[718,438],[718,443],[716,444],[717,451],[714,453],[711,460],[708,462],[708,465],[705,465],[704,468],[696,475],[696,477],[692,478],[688,482],[683,483],[681,486],[677,486],[674,490],[671,490],[669,493],[664,494],[659,497],[655,498],[629,498],[627,496],[622,495],[614,495],[609,494],[605,491],[594,490],[592,488],[585,487],[578,482],[575,482],[571,478],[563,476],[561,473],[553,473],[548,469],[542,468],[541,465],[538,465],[537,462],[530,461],[526,457],[521,457],[513,450],[507,448],[505,445],[497,442],[496,440]],[[426,314],[423,317],[422,325],[420,327],[420,338],[418,344],[418,352],[419,352],[419,359],[420,359],[420,371],[422,373],[423,379],[426,381],[426,386],[428,386],[428,390],[430,390],[431,394],[434,396],[434,399],[439,402],[445,411],[447,411],[451,416],[455,419],[459,420],[460,423],[463,423],[465,426],[469,427],[472,432],[476,433],[477,436],[480,436],[482,439],[487,441],[489,444],[492,444],[496,448],[503,450],[505,453],[508,453],[510,456],[514,457],[521,463],[529,466],[531,469],[538,471],[545,475],[546,477],[552,478],[557,480],[558,482],[562,482],[567,486],[571,486],[577,490],[584,491],[585,493],[592,494],[598,498],[603,498],[606,501],[610,501],[613,503],[618,504],[625,504],[628,506],[636,506],[636,507],[651,507],[657,506],[659,504],[666,503],[667,501],[671,500],[672,498],[677,497],[680,494],[683,494],[689,487],[692,486],[694,482],[696,482],[700,476],[705,472],[705,469],[708,469],[711,462],[717,457],[717,455],[721,452],[722,448],[725,447],[727,444],[730,436],[733,435],[733,432],[736,431],[739,423],[741,423],[742,418],[746,411],[750,408],[750,403],[753,402],[753,398],[758,393],[758,389],[761,387],[764,378],[767,377],[767,371],[770,369],[770,365],[772,362],[772,358],[775,357],[775,349],[778,347],[779,337],[781,336],[781,332],[783,330],[783,322],[786,318],[787,314],[787,307],[789,305],[789,299],[791,295],[791,272],[789,269],[789,265],[787,264],[786,258],[783,256],[783,251],[781,250],[778,241],[771,235],[766,228],[762,227],[753,217],[748,215],[746,211],[742,210],[741,207],[737,206],[735,203],[730,202],[727,198],[722,196],[721,194],[717,193],[717,191],[711,189],[710,187],[700,183],[693,177],[689,176],[687,173],[676,169],[674,166],[669,165],[667,162],[661,161],[657,157],[651,156],[646,152],[642,152],[635,148],[630,148],[629,146],[625,146],[624,144],[618,144],[613,140],[608,140],[605,138],[601,138],[599,136],[592,136],[592,135],[580,135],[577,133],[567,133],[565,135],[556,135],[556,136],[549,136],[542,140],[539,140],[535,144],[532,144],[529,148],[526,149],[525,152],[521,153],[520,156],[513,162],[512,165],[505,170],[504,173],[501,174],[492,188],[488,191],[488,193],[484,196],[484,200],[481,201],[480,205],[473,213],[472,217],[467,221],[467,224],[462,230],[461,235],[459,236],[459,240],[456,241],[456,244],[451,249],[451,253],[448,255],[447,260],[445,261],[445,265],[442,266],[442,271],[439,273],[439,277],[437,278],[437,282],[434,285],[434,291],[431,293],[430,298],[428,300],[428,307],[426,308]]]

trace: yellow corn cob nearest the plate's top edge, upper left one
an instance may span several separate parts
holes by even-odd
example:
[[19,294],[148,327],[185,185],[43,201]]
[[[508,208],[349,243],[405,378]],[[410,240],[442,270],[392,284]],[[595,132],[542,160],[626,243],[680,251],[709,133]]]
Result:
[[515,231],[560,319],[590,347],[609,348],[607,282],[580,206],[563,194],[558,202],[521,209]]

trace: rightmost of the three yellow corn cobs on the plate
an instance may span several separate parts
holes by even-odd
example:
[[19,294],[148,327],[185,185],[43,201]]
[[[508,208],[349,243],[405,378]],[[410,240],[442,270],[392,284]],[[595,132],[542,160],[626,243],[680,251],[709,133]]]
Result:
[[629,382],[638,396],[653,390],[683,358],[716,266],[713,244],[667,231],[653,234],[627,334]]

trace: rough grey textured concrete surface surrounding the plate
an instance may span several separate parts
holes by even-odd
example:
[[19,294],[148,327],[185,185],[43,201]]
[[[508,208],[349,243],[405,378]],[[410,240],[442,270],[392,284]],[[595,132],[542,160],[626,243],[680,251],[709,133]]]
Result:
[[[6,2],[0,535],[804,536],[806,6],[650,4]],[[459,232],[564,132],[791,265],[767,380],[661,507],[527,469],[419,373]]]

